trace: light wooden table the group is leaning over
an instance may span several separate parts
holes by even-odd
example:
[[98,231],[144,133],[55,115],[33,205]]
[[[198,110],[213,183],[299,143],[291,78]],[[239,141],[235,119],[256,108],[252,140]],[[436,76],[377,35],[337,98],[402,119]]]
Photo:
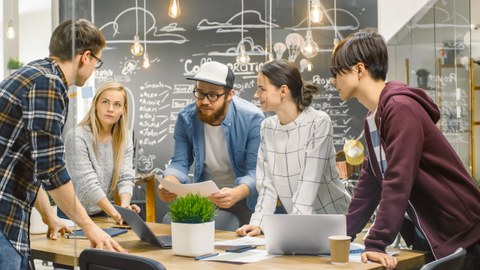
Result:
[[[105,218],[95,220],[100,227],[111,227],[112,221]],[[159,223],[148,223],[156,234],[170,234],[170,225]],[[234,239],[235,233],[230,231],[216,231],[215,241]],[[139,240],[135,233],[129,230],[128,233],[114,238],[130,254],[153,258],[161,262],[169,270],[174,269],[383,269],[376,263],[350,262],[346,266],[334,266],[330,259],[318,256],[279,256],[272,259],[249,263],[231,264],[222,262],[195,261],[190,257],[175,256],[171,249],[160,249],[146,242]],[[35,259],[52,261],[66,265],[78,265],[80,253],[90,247],[86,239],[49,240],[45,235],[31,235],[30,245],[32,256]],[[219,251],[223,252],[223,251]],[[424,255],[421,252],[401,250],[397,255],[399,261],[397,269],[419,268],[424,263]]]

